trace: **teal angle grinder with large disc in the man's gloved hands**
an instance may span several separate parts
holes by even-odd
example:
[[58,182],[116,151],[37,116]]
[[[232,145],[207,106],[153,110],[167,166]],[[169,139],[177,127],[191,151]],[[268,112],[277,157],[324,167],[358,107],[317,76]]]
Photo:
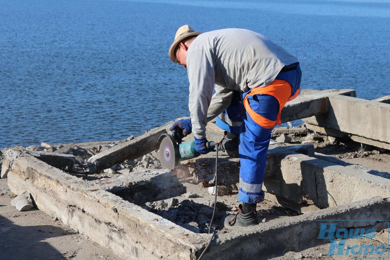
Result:
[[[200,156],[200,153],[195,149],[195,140],[181,142],[175,140],[170,134],[161,134],[158,138],[160,143],[159,157],[161,167],[173,170],[179,161],[188,160]],[[212,149],[218,143],[209,141],[206,143],[206,147]]]

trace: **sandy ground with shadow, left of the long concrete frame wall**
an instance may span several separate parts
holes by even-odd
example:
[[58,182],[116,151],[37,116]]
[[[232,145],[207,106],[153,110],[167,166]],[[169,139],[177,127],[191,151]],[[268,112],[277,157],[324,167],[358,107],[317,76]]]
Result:
[[121,259],[40,210],[11,206],[6,179],[0,179],[0,194],[0,260]]

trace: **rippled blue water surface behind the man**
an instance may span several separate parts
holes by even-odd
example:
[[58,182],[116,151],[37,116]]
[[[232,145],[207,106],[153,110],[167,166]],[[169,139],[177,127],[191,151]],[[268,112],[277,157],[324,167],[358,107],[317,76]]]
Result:
[[246,28],[299,58],[301,88],[389,95],[390,1],[0,0],[0,149],[119,140],[188,116],[177,28]]

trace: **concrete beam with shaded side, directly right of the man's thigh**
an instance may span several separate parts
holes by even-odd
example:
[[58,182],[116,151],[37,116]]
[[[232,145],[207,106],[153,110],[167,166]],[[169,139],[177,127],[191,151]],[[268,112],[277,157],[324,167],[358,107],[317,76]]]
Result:
[[352,89],[330,89],[321,91],[304,89],[298,97],[286,103],[280,113],[280,121],[285,123],[314,115],[329,113],[330,106],[328,97],[341,95],[356,97],[356,92]]

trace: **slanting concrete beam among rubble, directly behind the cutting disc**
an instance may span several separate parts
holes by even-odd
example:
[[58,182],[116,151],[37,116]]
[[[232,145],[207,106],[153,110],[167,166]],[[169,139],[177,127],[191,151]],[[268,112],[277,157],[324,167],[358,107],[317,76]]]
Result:
[[91,164],[89,170],[91,173],[100,172],[101,170],[111,168],[116,163],[124,160],[133,160],[140,157],[142,154],[147,154],[158,149],[158,138],[161,134],[168,133],[167,130],[174,122],[154,128],[151,131],[137,136],[131,141],[121,143],[104,152],[96,154],[88,159]]

